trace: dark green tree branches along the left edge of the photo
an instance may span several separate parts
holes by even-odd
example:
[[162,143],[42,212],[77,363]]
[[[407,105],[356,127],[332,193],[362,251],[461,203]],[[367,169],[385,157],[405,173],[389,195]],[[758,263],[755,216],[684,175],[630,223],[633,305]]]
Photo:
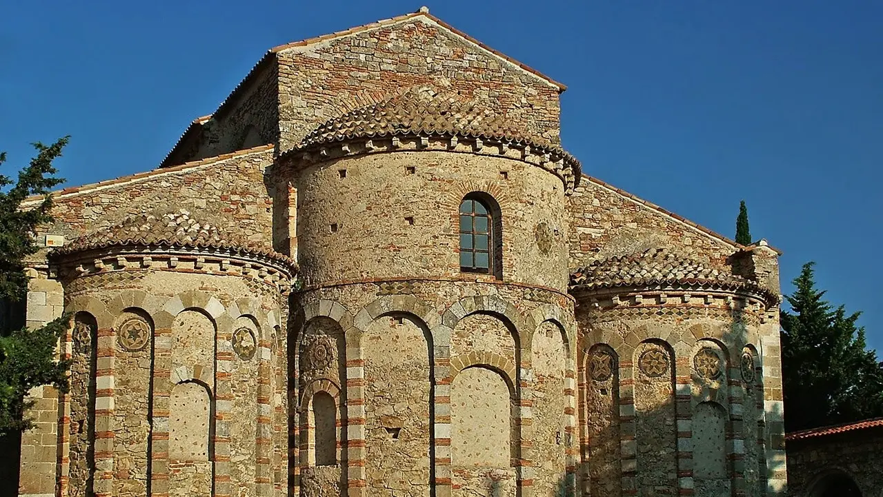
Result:
[[[68,137],[52,145],[34,143],[37,150],[31,162],[19,171],[18,180],[0,175],[0,300],[7,313],[23,308],[27,296],[25,260],[39,250],[35,230],[52,222],[49,190],[64,182],[56,177],[52,162],[61,155]],[[0,164],[6,154],[0,153]],[[21,208],[31,195],[42,195],[37,206]],[[31,388],[52,385],[67,390],[66,361],[58,360],[57,343],[68,326],[68,316],[36,329],[11,327],[7,319],[0,329],[0,437],[21,433],[31,426],[26,417],[31,405],[26,399]]]

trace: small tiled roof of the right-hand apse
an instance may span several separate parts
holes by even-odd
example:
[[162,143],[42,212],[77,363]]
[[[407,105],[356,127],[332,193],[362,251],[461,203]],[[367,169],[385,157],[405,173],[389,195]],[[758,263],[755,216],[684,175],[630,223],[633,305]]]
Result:
[[727,290],[761,290],[756,282],[662,248],[594,260],[570,275],[571,290],[679,284]]

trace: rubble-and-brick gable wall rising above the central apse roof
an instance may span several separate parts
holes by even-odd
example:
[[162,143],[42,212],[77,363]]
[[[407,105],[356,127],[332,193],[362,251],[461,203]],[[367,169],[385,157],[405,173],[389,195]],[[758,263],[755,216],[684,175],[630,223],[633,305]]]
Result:
[[558,142],[560,88],[425,16],[283,49],[279,149],[332,117],[418,85],[480,97],[525,133]]

